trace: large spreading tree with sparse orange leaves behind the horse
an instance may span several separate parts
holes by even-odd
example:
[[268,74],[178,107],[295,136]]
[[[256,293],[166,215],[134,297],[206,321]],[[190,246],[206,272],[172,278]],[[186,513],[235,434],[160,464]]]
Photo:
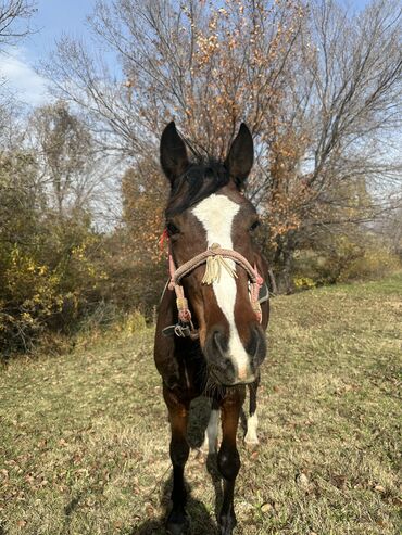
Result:
[[398,2],[374,0],[353,14],[334,0],[310,9],[100,1],[91,27],[123,79],[67,38],[45,72],[91,117],[104,150],[156,173],[159,132],[172,117],[194,157],[222,157],[247,120],[256,147],[248,194],[265,216],[264,242],[285,286],[306,234],[386,209],[375,193],[400,166],[384,154],[402,116]]

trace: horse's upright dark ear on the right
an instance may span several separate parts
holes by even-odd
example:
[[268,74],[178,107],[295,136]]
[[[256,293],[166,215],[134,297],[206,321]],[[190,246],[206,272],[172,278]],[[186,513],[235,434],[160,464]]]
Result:
[[254,161],[253,138],[247,125],[241,123],[238,135],[230,145],[225,160],[225,167],[234,178],[238,189],[242,189],[244,180],[251,171]]

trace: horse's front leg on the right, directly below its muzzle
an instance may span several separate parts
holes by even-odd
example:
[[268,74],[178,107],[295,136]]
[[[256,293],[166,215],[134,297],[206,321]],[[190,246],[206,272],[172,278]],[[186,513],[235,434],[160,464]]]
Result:
[[238,386],[229,392],[221,405],[222,444],[217,454],[217,468],[224,479],[224,496],[219,513],[221,535],[231,535],[237,523],[234,493],[236,477],[240,470],[240,456],[236,447],[236,434],[244,395],[246,388]]

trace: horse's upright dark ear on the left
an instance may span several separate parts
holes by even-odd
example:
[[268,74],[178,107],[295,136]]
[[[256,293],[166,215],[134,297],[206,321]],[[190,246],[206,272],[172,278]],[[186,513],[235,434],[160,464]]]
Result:
[[160,151],[162,169],[173,186],[189,165],[186,145],[173,120],[162,132]]

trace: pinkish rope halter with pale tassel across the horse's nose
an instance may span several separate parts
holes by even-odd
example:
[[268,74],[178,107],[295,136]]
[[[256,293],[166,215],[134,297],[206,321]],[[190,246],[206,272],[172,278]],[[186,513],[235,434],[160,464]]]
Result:
[[[166,238],[165,233],[164,238]],[[205,275],[202,279],[202,284],[212,284],[215,281],[218,282],[221,279],[222,269],[225,269],[230,275],[230,277],[237,278],[236,270],[227,263],[227,258],[234,260],[236,264],[241,266],[249,276],[250,302],[255,317],[261,323],[262,313],[259,303],[259,294],[260,289],[264,283],[264,279],[259,273],[256,265],[254,264],[254,267],[252,267],[249,260],[237,251],[234,251],[231,249],[222,249],[218,243],[213,243],[206,251],[203,251],[202,253],[196,255],[193,258],[186,262],[178,268],[176,268],[175,266],[171,251],[168,253],[171,280],[167,288],[172,291],[174,290],[176,293],[178,319],[183,323],[183,327],[180,327],[179,329],[177,329],[179,324],[175,326],[175,334],[179,336],[191,335],[191,333],[193,336],[197,335],[194,334],[196,331],[192,326],[191,311],[188,307],[188,301],[185,296],[185,290],[180,284],[181,279],[204,263],[206,263],[206,269]]]

